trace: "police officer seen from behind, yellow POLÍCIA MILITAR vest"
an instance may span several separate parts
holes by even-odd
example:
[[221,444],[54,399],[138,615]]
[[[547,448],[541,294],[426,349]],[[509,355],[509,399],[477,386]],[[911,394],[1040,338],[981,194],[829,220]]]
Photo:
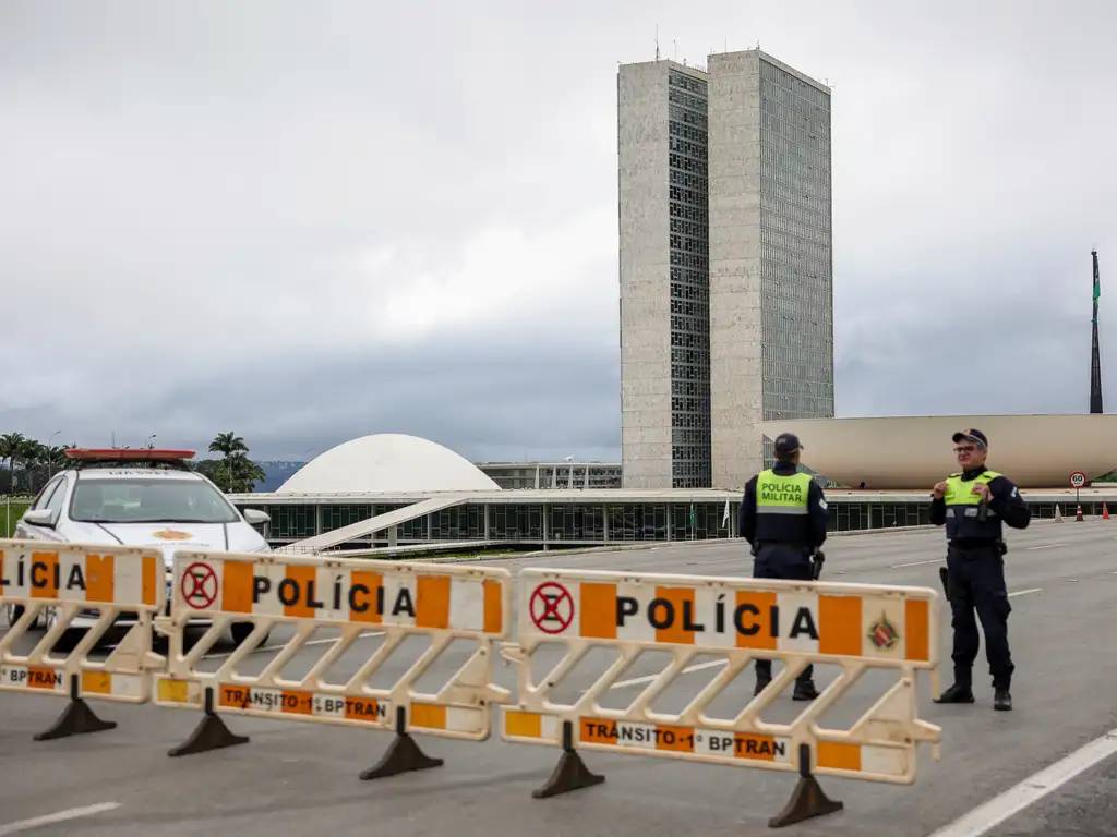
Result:
[[[814,551],[827,539],[827,501],[809,474],[799,473],[802,445],[794,433],[775,439],[775,466],[762,471],[745,485],[738,530],[753,548],[753,576],[811,580]],[[808,666],[795,679],[792,699],[819,696]],[[772,681],[772,661],[756,661],[756,690]]]

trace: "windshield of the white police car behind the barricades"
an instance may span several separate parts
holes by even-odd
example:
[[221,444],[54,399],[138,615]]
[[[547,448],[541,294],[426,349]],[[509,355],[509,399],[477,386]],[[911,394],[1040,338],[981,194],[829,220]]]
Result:
[[70,520],[86,523],[231,523],[232,507],[202,480],[79,479]]

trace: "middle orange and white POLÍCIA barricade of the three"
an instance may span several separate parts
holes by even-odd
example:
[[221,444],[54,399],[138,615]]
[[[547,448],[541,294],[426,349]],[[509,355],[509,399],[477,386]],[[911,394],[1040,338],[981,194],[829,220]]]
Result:
[[[246,740],[217,712],[395,730],[385,759],[362,773],[376,778],[432,764],[411,731],[488,738],[491,704],[507,699],[493,682],[493,643],[507,635],[512,605],[504,569],[178,552],[172,590],[171,616],[160,622],[170,644],[155,702],[206,711],[172,756]],[[185,631],[198,622],[209,627],[187,650]],[[206,655],[230,626],[250,633],[214,667]],[[323,631],[331,636],[312,638]],[[408,645],[414,637],[426,647]],[[448,653],[454,645],[466,646],[460,665]],[[261,651],[275,652],[262,668]],[[437,687],[424,691],[420,681]]]

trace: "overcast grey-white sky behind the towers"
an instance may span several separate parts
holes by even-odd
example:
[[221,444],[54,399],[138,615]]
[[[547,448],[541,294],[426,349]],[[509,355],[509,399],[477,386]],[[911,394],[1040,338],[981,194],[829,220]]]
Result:
[[1117,404],[1117,4],[4,0],[0,432],[619,459],[657,23],[834,87],[839,415],[1085,412],[1091,247]]

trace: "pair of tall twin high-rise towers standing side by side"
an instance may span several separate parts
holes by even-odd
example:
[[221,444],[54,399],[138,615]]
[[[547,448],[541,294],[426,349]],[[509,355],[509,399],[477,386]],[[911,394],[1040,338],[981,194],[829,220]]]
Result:
[[739,487],[833,415],[830,88],[755,49],[617,100],[624,488]]

